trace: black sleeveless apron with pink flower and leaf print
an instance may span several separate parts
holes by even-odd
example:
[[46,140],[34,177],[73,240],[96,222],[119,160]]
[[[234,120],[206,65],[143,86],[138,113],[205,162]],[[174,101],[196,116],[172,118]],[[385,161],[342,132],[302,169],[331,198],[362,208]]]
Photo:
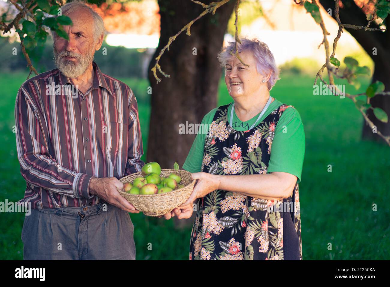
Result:
[[[275,127],[284,110],[292,106],[281,105],[244,132],[229,126],[228,107],[221,106],[215,113],[201,171],[267,173]],[[302,260],[300,221],[298,184],[289,198],[275,201],[215,190],[197,203],[190,260]]]

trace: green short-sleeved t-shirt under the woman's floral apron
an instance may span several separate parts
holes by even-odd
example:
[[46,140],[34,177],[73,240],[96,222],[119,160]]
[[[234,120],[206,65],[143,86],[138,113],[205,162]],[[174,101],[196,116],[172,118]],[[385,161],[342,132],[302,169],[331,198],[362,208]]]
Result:
[[[259,114],[252,119],[242,122],[233,112],[232,128],[239,131],[248,130],[256,121],[255,126],[263,121],[272,111],[278,109],[282,105],[277,99],[269,104],[268,109],[262,117],[256,121]],[[230,112],[232,103],[228,108],[228,120],[230,121]],[[218,108],[212,109],[204,116],[202,126],[209,126],[213,122],[215,112]],[[202,167],[204,155],[205,133],[199,133],[195,137],[187,159],[183,164],[183,169],[191,173],[199,172]],[[301,116],[296,109],[288,107],[282,113],[276,128],[275,135],[271,145],[271,156],[269,158],[267,173],[282,171],[295,175],[298,178],[298,183],[301,181],[303,157],[305,155],[305,132]]]

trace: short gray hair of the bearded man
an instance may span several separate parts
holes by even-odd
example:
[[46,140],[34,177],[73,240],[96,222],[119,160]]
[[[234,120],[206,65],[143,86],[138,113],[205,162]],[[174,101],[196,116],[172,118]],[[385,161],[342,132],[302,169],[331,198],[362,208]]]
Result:
[[[94,11],[94,9],[92,9],[87,4],[85,4],[84,1],[74,0],[72,2],[67,2],[65,5],[60,7],[60,9],[61,9],[62,14],[69,14],[73,11],[78,11],[80,9],[87,9],[91,13],[91,16],[94,20],[93,37],[94,37],[95,42],[97,41],[97,39],[99,39],[99,37],[102,34],[103,34],[103,36],[105,36],[107,34],[107,31],[104,27],[103,18],[101,18],[101,16],[96,11]],[[55,31],[51,31],[51,36],[53,36],[53,39],[55,39],[55,37],[57,36]]]

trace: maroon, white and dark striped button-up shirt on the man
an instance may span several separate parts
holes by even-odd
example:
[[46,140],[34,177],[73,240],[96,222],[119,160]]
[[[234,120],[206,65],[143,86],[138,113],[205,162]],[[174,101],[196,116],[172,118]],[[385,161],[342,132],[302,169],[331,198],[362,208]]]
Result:
[[[28,79],[16,97],[16,145],[27,187],[19,202],[35,209],[104,202],[94,177],[121,178],[144,162],[138,105],[123,82],[93,62],[92,87],[71,93],[58,69]],[[65,87],[65,88],[64,88]]]

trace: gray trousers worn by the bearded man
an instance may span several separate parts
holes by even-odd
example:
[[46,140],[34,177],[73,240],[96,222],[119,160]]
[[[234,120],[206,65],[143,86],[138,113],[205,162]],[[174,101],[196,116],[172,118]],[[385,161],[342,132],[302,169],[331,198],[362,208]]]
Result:
[[135,260],[129,213],[108,203],[31,209],[21,239],[24,260]]

